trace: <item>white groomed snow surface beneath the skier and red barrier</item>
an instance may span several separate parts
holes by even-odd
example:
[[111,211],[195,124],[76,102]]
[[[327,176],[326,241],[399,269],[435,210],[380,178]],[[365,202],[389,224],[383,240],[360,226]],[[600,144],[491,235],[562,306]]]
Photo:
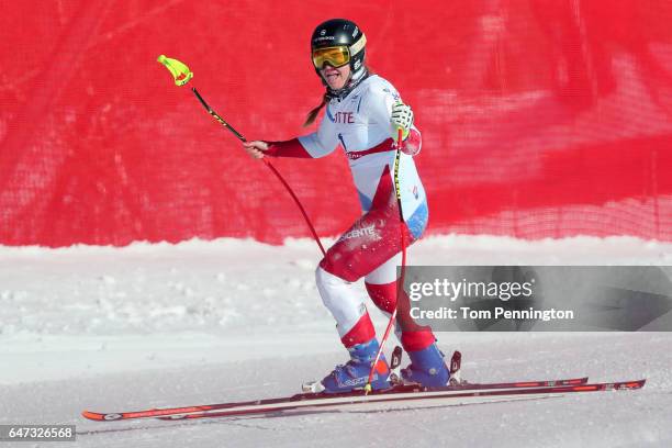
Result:
[[[672,446],[672,333],[441,333],[470,381],[647,378],[635,392],[273,417],[97,423],[133,411],[293,394],[346,359],[307,239],[0,247],[0,424],[75,424],[81,447]],[[636,238],[441,236],[415,265],[672,265]],[[366,296],[360,288],[362,298]],[[370,310],[373,310],[370,306]],[[371,312],[379,333],[387,320]]]

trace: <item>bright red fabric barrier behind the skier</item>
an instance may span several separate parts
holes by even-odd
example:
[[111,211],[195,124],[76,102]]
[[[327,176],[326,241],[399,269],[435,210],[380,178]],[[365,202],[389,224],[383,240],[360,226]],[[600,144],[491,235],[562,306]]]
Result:
[[[306,132],[313,27],[348,16],[416,112],[432,233],[672,240],[667,0],[9,2],[0,16],[0,244],[307,231],[249,138]],[[341,154],[279,160],[323,235],[359,213]]]

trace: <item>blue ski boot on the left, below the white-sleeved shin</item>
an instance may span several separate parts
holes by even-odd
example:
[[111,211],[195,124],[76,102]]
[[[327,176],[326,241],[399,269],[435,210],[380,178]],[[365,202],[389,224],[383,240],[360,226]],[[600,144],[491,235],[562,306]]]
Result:
[[[340,393],[362,389],[369,380],[371,365],[376,360],[379,347],[378,340],[373,338],[368,343],[348,348],[350,360],[345,366],[336,366],[336,369],[322,380],[323,391],[326,393]],[[384,355],[381,355],[373,371],[371,389],[390,388],[389,377],[390,367],[385,361]]]

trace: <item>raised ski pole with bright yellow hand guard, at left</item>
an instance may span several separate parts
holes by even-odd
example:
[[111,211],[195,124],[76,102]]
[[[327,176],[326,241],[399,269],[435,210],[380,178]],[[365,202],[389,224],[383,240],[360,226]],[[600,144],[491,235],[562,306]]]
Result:
[[[189,67],[187,67],[187,65],[184,65],[183,63],[180,63],[177,59],[168,58],[165,55],[160,55],[157,60],[160,64],[163,64],[168,69],[168,71],[170,71],[170,74],[172,75],[172,78],[175,80],[176,86],[183,86],[187,82],[189,82],[189,80],[191,78],[193,78],[193,72],[189,69]],[[222,126],[224,126],[225,128],[231,131],[232,134],[234,134],[240,142],[247,142],[247,139],[243,136],[243,134],[240,134],[238,131],[236,131],[231,124],[228,124],[226,122],[226,120],[224,120],[222,117],[222,115],[216,113],[205,102],[205,100],[203,99],[203,97],[201,97],[201,94],[195,89],[195,87],[192,87],[191,91],[197,97],[199,102],[203,105],[203,108],[205,108],[208,113],[210,113],[210,115],[212,115]],[[317,232],[315,232],[315,227],[313,226],[313,223],[311,223],[311,220],[310,220],[307,213],[305,212],[305,209],[303,209],[303,205],[301,204],[301,201],[299,201],[299,198],[296,197],[296,194],[294,194],[294,191],[291,189],[289,183],[287,183],[284,178],[276,169],[276,167],[270,161],[268,161],[268,159],[266,157],[264,157],[261,160],[273,172],[273,175],[276,175],[278,180],[284,186],[285,190],[290,193],[290,195],[292,197],[292,199],[296,203],[296,206],[299,206],[299,210],[301,211],[301,214],[303,214],[303,219],[305,220],[305,223],[307,224],[307,226],[309,226],[309,228],[311,231],[311,234],[313,235],[313,239],[315,239],[315,243],[317,243],[317,246],[320,246],[320,250],[322,250],[322,255],[325,256],[326,251],[324,250],[324,247],[322,246],[322,242],[320,240],[320,237],[317,236]]]

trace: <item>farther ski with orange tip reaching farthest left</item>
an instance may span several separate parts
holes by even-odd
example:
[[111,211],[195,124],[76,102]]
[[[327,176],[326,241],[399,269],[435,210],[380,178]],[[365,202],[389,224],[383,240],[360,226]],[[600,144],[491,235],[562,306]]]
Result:
[[[458,385],[448,385],[445,388],[434,388],[432,392],[467,392],[471,391],[472,393],[477,393],[479,391],[488,391],[488,390],[523,390],[529,388],[555,388],[555,387],[576,387],[581,384],[587,383],[587,377],[583,378],[570,378],[562,380],[541,380],[541,381],[514,381],[514,382],[500,382],[500,383],[462,383]],[[278,399],[265,399],[265,400],[249,400],[249,401],[240,401],[240,402],[229,402],[229,403],[215,403],[215,404],[205,404],[205,405],[192,405],[192,406],[182,406],[182,407],[168,407],[168,408],[159,408],[159,410],[145,410],[145,411],[133,411],[133,412],[121,412],[121,413],[98,413],[91,411],[82,412],[82,416],[97,421],[97,422],[114,422],[114,421],[124,421],[124,419],[134,419],[134,418],[152,418],[152,417],[165,417],[171,415],[183,415],[183,414],[198,414],[204,412],[213,412],[220,410],[233,410],[233,408],[243,408],[249,406],[282,406],[288,404],[296,404],[296,403],[316,403],[316,400],[334,400],[334,399],[343,399],[345,397],[355,397],[355,396],[378,396],[382,394],[400,394],[406,393],[408,391],[414,391],[413,393],[417,393],[423,390],[422,387],[415,384],[408,385],[396,385],[394,388],[372,392],[369,395],[363,395],[362,391],[349,392],[347,394],[327,394],[327,393],[300,393],[291,396],[283,396]],[[427,390],[428,391],[428,390]],[[423,392],[424,393],[424,392]]]

